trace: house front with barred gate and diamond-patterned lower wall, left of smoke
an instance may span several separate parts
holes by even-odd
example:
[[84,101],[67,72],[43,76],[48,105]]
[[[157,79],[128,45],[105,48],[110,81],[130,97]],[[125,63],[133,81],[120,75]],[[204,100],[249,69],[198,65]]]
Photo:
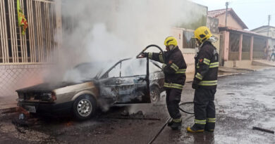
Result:
[[20,1],[27,18],[25,35],[18,27],[17,1],[0,1],[0,96],[43,81],[51,55],[59,48],[61,4],[52,0]]

